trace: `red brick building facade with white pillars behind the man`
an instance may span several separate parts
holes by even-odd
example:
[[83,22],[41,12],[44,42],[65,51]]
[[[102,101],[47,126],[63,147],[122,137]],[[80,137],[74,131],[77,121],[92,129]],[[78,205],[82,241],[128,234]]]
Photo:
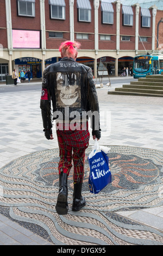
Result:
[[120,0],[0,2],[0,81],[14,68],[42,77],[47,65],[58,62],[58,48],[65,40],[80,42],[77,61],[91,66],[95,77],[100,60],[118,76],[137,54],[153,53],[163,42],[163,22],[157,35],[163,11],[155,5],[145,9]]

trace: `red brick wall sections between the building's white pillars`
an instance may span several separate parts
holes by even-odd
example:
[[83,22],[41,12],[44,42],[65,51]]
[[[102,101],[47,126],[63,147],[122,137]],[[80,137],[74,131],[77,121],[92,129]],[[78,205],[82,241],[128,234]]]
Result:
[[[82,49],[93,50],[95,48],[95,18],[94,18],[94,7],[93,0],[91,3],[91,22],[79,22],[78,21],[78,9],[77,0],[74,1],[74,39],[76,39],[76,33],[88,33],[89,40],[80,40],[82,44]],[[63,40],[70,40],[70,7],[69,0],[65,0],[66,4],[66,20],[55,20],[50,19],[50,5],[48,0],[45,0],[45,19],[46,19],[46,46],[47,49],[58,49],[60,43]],[[101,11],[101,1],[98,9],[98,32],[99,32],[99,50],[115,50],[116,49],[116,4],[112,3],[114,8],[114,24],[102,24],[102,11]],[[134,18],[133,26],[123,26],[123,15],[122,15],[122,5],[120,11],[120,35],[129,35],[130,41],[121,41],[120,36],[120,50],[135,50],[135,7],[133,6]],[[1,12],[0,19],[0,44],[7,48],[7,25],[5,16],[5,0],[1,0]],[[141,8],[140,8],[141,9]],[[151,50],[152,48],[152,9],[151,11],[151,27],[142,28],[141,27],[141,14],[139,14],[139,35],[147,36],[148,42],[139,42],[139,50]],[[40,30],[40,1],[35,1],[35,17],[26,17],[17,15],[17,1],[11,1],[11,17],[12,17],[12,28],[13,29],[34,29]],[[157,25],[160,19],[163,18],[163,11],[157,10],[156,13],[156,24],[155,24],[155,35],[157,36]],[[49,38],[48,31],[60,31],[63,32],[64,39],[52,39]],[[110,34],[110,41],[100,40],[100,34]],[[159,25],[159,43],[163,44],[163,22]],[[145,47],[145,48],[144,48]],[[163,47],[162,47],[163,48]],[[156,39],[155,39],[155,49],[156,49]]]

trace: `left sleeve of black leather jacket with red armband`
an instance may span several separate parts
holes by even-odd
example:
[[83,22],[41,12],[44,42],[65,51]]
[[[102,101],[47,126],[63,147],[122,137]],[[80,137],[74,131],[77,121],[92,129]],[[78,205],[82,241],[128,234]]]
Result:
[[48,72],[47,69],[43,72],[43,81],[42,81],[42,91],[41,91],[41,100],[40,108],[42,114],[43,128],[51,129],[52,128],[52,114],[51,114],[51,96],[48,88]]

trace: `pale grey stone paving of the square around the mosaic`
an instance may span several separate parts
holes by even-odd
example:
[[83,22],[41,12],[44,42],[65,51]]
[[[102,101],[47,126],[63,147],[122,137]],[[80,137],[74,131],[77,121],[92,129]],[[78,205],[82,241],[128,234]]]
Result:
[[[108,87],[105,86],[104,88],[97,89],[102,113],[102,130],[104,130],[100,140],[101,144],[139,146],[140,148],[163,151],[162,98],[108,95],[107,91]],[[3,97],[0,94],[1,115],[3,117],[0,121],[0,168],[18,157],[26,156],[27,154],[35,153],[40,150],[58,148],[55,133],[54,140],[51,142],[47,141],[43,136],[42,119],[39,108],[40,95],[40,89],[35,92],[20,92],[19,94],[6,93],[3,94]],[[8,105],[7,102],[9,102]],[[105,114],[106,117],[104,116]],[[106,127],[105,118],[109,124],[108,126],[106,125]],[[90,138],[90,145],[91,144],[93,144],[92,138]],[[120,212],[119,216],[122,214],[122,217],[128,217],[130,220],[139,221],[140,223],[150,226],[148,219],[154,215],[154,220],[156,220],[154,228],[158,229],[157,225],[160,223],[160,220],[162,220],[163,211],[162,209],[161,211],[157,211],[157,209],[158,208],[154,208],[155,213],[151,213],[151,209],[149,209],[149,211],[146,209],[146,216],[142,215],[142,210],[135,211],[133,214],[129,214],[127,211],[125,211],[125,214]],[[127,214],[130,216],[126,216]],[[7,222],[3,220],[3,217],[3,215],[0,215],[0,230],[1,227],[4,228],[6,225],[6,230],[2,229],[0,233],[0,243],[2,243],[2,245],[6,243],[44,244],[44,242],[49,242],[47,240],[39,240],[41,238],[35,236],[34,233],[27,236],[26,233],[24,234],[22,232],[24,238],[23,242],[16,233],[18,228],[15,228],[16,231],[14,231],[14,234],[16,239],[14,239],[12,235],[9,236],[9,233],[6,233],[11,230],[10,226],[13,228],[11,223],[15,224],[15,222],[10,220],[11,223],[8,225]],[[9,219],[7,218],[7,220]],[[16,225],[18,224],[16,223]],[[159,225],[159,229],[160,228]],[[24,229],[26,230],[26,228]],[[18,230],[18,232],[21,234],[20,230]]]

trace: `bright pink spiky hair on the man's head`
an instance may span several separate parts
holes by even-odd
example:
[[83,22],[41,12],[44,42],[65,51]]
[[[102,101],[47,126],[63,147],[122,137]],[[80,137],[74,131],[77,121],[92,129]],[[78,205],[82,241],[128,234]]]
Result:
[[67,56],[68,58],[70,57],[74,58],[79,48],[80,48],[79,42],[65,41],[61,43],[59,47],[59,51],[62,52],[64,56]]

